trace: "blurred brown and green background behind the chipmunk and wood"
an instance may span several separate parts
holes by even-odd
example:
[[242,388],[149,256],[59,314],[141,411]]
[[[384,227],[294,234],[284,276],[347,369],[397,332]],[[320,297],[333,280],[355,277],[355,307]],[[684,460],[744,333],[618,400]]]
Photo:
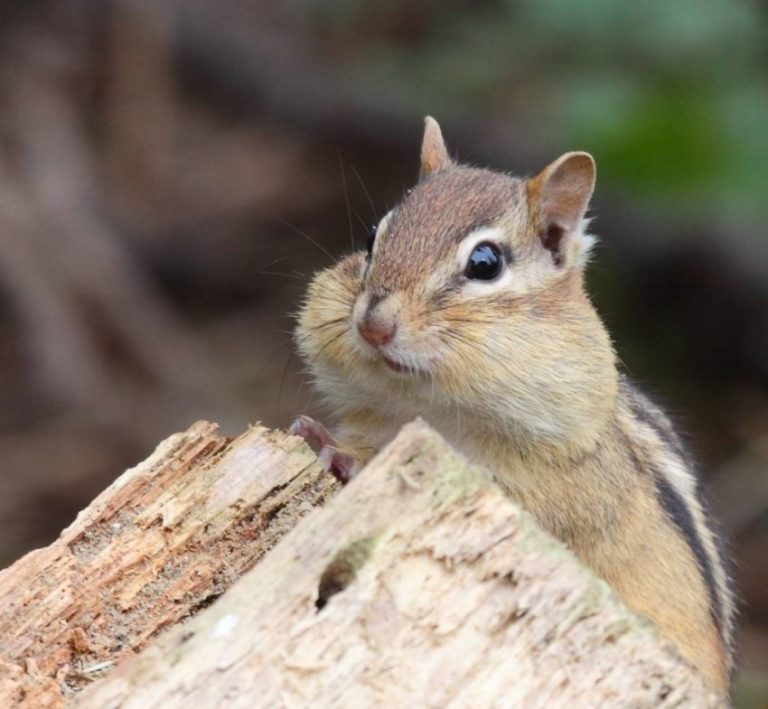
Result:
[[196,419],[314,410],[290,315],[425,113],[463,161],[595,155],[590,286],[702,462],[768,706],[765,3],[5,0],[0,561]]

